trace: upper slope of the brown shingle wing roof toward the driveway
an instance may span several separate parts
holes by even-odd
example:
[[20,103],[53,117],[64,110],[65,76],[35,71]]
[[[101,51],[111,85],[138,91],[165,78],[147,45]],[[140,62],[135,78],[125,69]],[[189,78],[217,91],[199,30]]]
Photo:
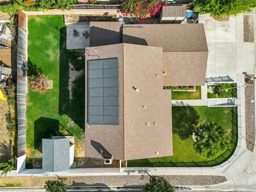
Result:
[[[123,25],[123,43],[163,47],[163,51],[208,51],[203,24]],[[134,28],[142,26],[142,28]]]

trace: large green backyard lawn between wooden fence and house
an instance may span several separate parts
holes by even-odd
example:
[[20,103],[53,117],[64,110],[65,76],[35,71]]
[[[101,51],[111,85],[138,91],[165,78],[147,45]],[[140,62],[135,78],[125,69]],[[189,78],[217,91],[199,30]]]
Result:
[[[42,138],[51,135],[74,135],[76,150],[84,142],[84,51],[66,49],[63,15],[32,17],[28,31],[28,76],[42,71],[53,81],[53,89],[45,94],[28,90],[27,157],[42,157]],[[83,72],[73,82],[73,98],[68,89],[69,63]]]

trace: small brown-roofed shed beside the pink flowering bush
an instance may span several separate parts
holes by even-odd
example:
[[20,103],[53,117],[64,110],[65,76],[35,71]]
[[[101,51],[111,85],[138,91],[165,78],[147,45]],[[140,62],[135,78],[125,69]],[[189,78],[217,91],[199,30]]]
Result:
[[164,6],[160,13],[160,23],[181,23],[186,18],[186,5]]

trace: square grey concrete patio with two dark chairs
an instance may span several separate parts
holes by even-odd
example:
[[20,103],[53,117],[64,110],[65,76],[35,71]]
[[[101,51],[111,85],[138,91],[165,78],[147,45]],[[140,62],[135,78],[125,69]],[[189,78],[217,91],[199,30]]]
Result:
[[[90,23],[67,24],[67,49],[84,49],[90,46],[90,36],[85,38],[83,33],[87,30],[90,34]],[[73,30],[78,31],[78,37],[73,35]]]

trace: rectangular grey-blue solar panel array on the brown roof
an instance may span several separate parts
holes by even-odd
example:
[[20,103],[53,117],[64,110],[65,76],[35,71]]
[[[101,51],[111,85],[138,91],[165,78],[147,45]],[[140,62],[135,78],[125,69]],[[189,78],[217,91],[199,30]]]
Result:
[[87,123],[119,124],[118,59],[87,61]]

